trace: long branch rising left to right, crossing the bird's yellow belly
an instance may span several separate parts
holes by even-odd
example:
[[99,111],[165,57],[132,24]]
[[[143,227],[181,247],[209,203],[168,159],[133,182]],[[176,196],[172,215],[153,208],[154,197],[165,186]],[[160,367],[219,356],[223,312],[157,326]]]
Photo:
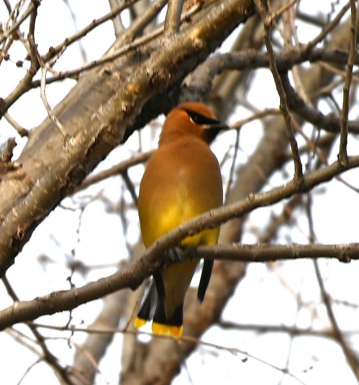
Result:
[[[359,156],[348,158],[346,169],[358,166]],[[219,226],[222,222],[228,221],[231,218],[241,217],[256,208],[273,205],[285,198],[289,198],[293,194],[308,191],[315,185],[332,179],[342,171],[343,166],[341,162],[336,161],[325,168],[303,176],[303,181],[300,185],[292,180],[266,193],[250,194],[247,199],[238,203],[200,215],[156,241],[153,246],[146,250],[143,257],[131,263],[130,268],[127,270],[117,272],[106,278],[101,278],[96,282],[89,283],[80,288],[55,292],[45,297],[38,297],[33,301],[14,303],[12,306],[0,312],[0,330],[17,322],[33,320],[44,314],[71,310],[82,303],[103,297],[119,289],[128,287],[134,289],[138,287],[146,277],[162,266],[165,257],[163,252],[174,245],[178,245],[179,242],[188,235],[196,234],[204,228]],[[336,255],[343,261],[348,262],[347,255],[353,258],[351,253],[352,247],[352,245],[344,247],[345,253],[337,253]],[[333,253],[334,251],[330,250],[330,252]],[[336,250],[336,252],[338,252],[338,250]],[[290,254],[287,254],[287,256],[289,255]],[[293,255],[293,252],[291,255]],[[294,253],[294,256],[295,255]],[[354,257],[355,255],[354,253]]]

